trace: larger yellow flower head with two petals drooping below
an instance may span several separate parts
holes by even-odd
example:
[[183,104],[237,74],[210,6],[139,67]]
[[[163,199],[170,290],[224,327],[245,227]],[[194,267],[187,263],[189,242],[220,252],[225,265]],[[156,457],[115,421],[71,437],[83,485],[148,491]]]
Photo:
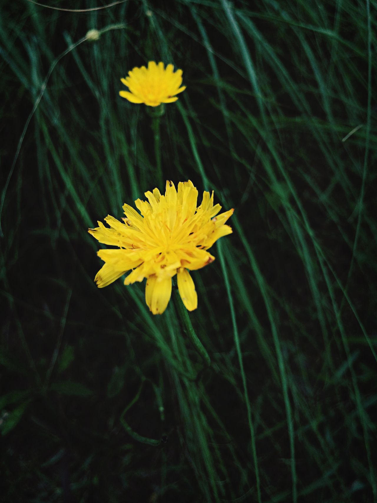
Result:
[[158,189],[145,193],[147,201],[135,201],[134,208],[123,206],[124,223],[108,215],[105,227],[89,229],[100,243],[118,246],[101,249],[98,256],[105,265],[95,281],[102,288],[110,285],[126,271],[133,271],[124,284],[147,278],[145,301],[153,314],[166,309],[171,295],[171,278],[177,275],[177,284],[183,304],[189,311],[198,306],[198,296],[189,271],[201,269],[215,260],[207,249],[221,236],[232,232],[224,225],[233,209],[217,215],[221,209],[213,204],[213,192],[203,193],[197,208],[198,191],[193,183],[179,182],[176,191],[172,182],[166,182],[165,195]]

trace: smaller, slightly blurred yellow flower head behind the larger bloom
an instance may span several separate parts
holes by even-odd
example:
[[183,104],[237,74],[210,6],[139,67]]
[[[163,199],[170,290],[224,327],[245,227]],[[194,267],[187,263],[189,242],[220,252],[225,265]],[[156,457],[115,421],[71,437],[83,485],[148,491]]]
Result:
[[121,78],[130,92],[119,91],[119,94],[132,103],[145,103],[149,107],[177,101],[175,95],[184,91],[186,87],[179,87],[182,83],[182,70],[173,72],[173,69],[172,64],[164,68],[162,62],[157,65],[154,61],[149,61],[148,68],[135,67],[128,72],[128,77]]

